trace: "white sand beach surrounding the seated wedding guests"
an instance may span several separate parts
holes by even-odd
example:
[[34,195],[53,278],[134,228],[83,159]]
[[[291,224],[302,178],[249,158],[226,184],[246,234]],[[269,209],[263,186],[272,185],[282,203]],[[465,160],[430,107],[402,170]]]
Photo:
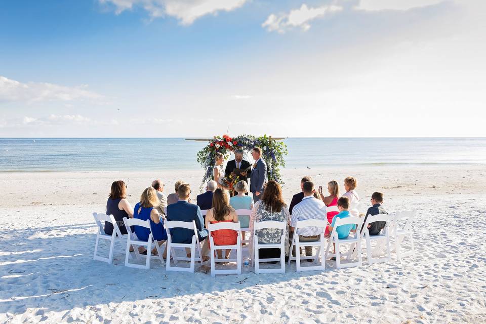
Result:
[[[93,212],[104,212],[113,180],[137,203],[155,178],[198,193],[201,171],[0,173],[0,322],[484,323],[486,321],[486,167],[421,166],[284,170],[290,201],[303,175],[319,185],[358,179],[369,202],[417,209],[416,256],[337,270],[212,278],[93,260]],[[209,264],[209,263],[208,263]]]

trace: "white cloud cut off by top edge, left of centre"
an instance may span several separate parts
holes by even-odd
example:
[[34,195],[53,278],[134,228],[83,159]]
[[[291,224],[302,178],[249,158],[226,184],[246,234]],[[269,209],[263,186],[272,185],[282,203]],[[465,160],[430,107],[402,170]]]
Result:
[[130,10],[134,6],[141,6],[149,12],[152,18],[171,16],[177,18],[181,24],[190,25],[197,18],[213,14],[218,11],[232,11],[248,0],[99,0],[101,3],[111,3],[115,6],[115,13]]

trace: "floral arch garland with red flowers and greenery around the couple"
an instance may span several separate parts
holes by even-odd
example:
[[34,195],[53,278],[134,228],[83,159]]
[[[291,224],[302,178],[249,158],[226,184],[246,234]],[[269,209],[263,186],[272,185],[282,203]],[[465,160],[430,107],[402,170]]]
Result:
[[[209,180],[214,180],[214,154],[218,152],[222,153],[225,159],[227,159],[230,153],[236,149],[250,152],[256,146],[262,149],[262,158],[267,164],[268,180],[275,180],[283,185],[284,182],[281,181],[280,168],[285,167],[284,156],[288,153],[287,145],[284,142],[272,139],[271,136],[267,135],[260,137],[253,135],[230,137],[225,134],[223,136],[215,136],[204,149],[197,153],[197,162],[205,170],[199,189],[202,190]],[[225,182],[228,184],[231,182],[234,185],[237,183],[237,180],[225,179]]]

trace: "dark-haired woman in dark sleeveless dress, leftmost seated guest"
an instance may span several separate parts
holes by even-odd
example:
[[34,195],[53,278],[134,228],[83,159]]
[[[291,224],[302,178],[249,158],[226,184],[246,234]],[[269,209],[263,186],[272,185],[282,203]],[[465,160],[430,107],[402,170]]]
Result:
[[[127,186],[125,182],[118,180],[111,184],[111,192],[106,201],[106,215],[113,215],[121,234],[127,234],[127,228],[123,218],[133,218],[133,209],[127,200]],[[113,224],[105,221],[105,233],[113,234]]]

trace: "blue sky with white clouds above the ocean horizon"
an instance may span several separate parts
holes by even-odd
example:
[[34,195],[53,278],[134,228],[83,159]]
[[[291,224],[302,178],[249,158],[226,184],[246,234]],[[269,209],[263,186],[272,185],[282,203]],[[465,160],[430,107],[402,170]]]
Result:
[[0,137],[486,136],[486,1],[0,2]]

